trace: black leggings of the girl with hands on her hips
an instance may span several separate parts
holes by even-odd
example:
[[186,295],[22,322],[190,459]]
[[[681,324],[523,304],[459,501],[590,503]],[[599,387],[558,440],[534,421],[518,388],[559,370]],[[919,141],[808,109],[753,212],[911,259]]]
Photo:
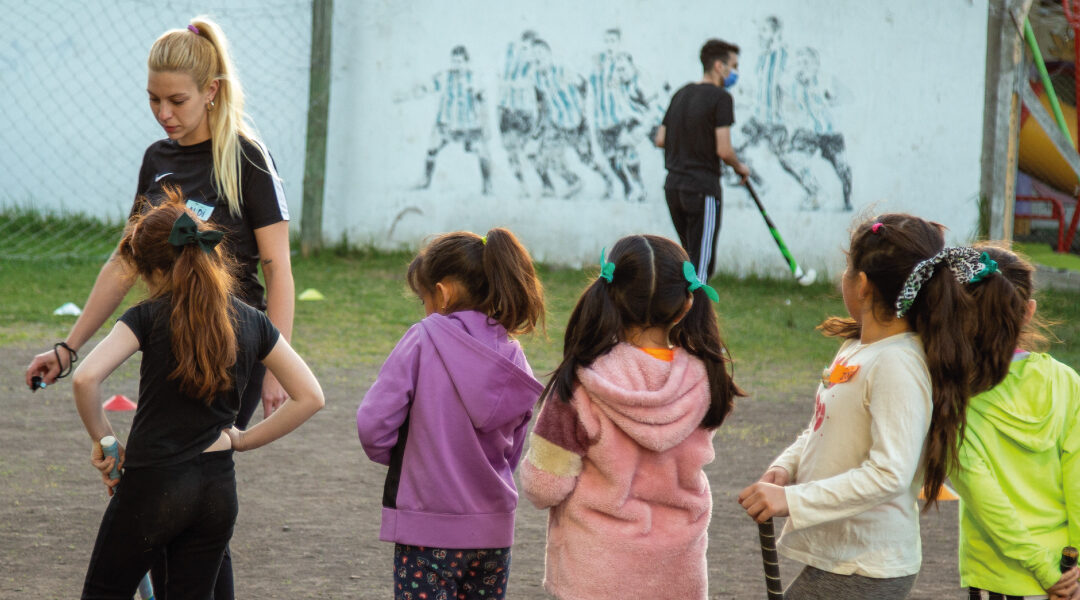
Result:
[[211,597],[237,521],[232,450],[171,466],[125,468],[105,509],[82,598],[131,600],[162,550],[170,600]]

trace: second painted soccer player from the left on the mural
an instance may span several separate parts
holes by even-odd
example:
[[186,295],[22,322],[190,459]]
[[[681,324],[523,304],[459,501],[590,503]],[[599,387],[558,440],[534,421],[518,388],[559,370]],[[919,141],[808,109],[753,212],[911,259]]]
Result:
[[522,154],[536,160],[536,154],[528,154],[525,147],[540,117],[532,64],[536,38],[536,31],[529,29],[522,32],[519,40],[510,42],[499,88],[499,135],[522,196],[529,195],[522,171]]

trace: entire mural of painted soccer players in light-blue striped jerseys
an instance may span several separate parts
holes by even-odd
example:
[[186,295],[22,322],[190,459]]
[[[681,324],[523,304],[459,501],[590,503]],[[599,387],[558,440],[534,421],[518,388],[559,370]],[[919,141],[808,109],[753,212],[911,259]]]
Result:
[[[780,183],[777,201],[787,205],[774,210],[851,210],[851,168],[834,117],[845,96],[842,87],[823,72],[815,49],[793,50],[782,33],[781,19],[766,16],[759,23],[758,44],[751,50],[754,54],[742,57],[752,66],[739,83],[748,95],[737,88],[735,100],[745,99],[750,106],[735,111],[735,152],[755,177],[764,173],[770,182]],[[411,94],[397,95],[397,101],[437,97],[417,189],[431,186],[442,150],[460,145],[480,162],[484,193],[492,190],[492,168],[505,168],[515,190],[500,193],[521,197],[569,199],[583,189],[603,189],[604,197],[631,202],[661,196],[659,187],[646,189],[639,152],[656,152],[651,141],[673,85],[644,83],[648,78],[624,47],[618,28],[604,30],[597,52],[577,65],[552,44],[526,29],[503,46],[495,62],[498,68],[490,73],[474,70],[467,46],[457,45],[449,68]],[[490,84],[496,86],[492,96],[485,93]],[[491,111],[488,97],[495,98]],[[491,131],[497,132],[501,149],[494,167]],[[472,175],[455,174],[455,180],[465,176]],[[507,179],[502,181],[499,185]],[[731,187],[738,180],[729,173],[727,183]],[[769,195],[768,187],[758,189]]]

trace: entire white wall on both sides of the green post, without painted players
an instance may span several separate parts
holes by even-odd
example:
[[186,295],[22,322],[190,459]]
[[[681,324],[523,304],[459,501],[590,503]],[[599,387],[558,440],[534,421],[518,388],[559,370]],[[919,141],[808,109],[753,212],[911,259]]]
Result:
[[[663,112],[667,95],[701,77],[698,52],[710,37],[742,46],[733,88],[737,147],[753,141],[742,129],[752,119],[772,120],[792,136],[811,124],[811,112],[827,121],[819,127],[842,136],[851,212],[843,209],[836,169],[813,145],[773,148],[759,140],[744,150],[800,262],[838,272],[847,229],[866,212],[912,212],[946,223],[956,240],[975,228],[986,0],[355,0],[336,2],[335,11],[328,240],[415,246],[433,233],[505,226],[539,259],[591,264],[600,247],[621,235],[674,235],[663,201],[662,154],[648,145],[645,129]],[[147,49],[161,31],[183,27],[201,12],[217,17],[230,38],[249,112],[276,159],[296,227],[310,0],[0,0],[0,206],[124,216],[143,151],[163,137],[146,104]],[[780,45],[787,52],[775,83],[788,98],[805,91],[819,100],[809,112],[795,101],[779,105],[779,117],[761,109],[758,95],[768,78],[757,64],[766,54],[761,32],[770,29],[769,16],[779,18]],[[602,199],[603,179],[570,150],[563,158],[581,177],[580,193],[541,197],[538,176],[526,168],[529,195],[523,195],[497,122],[508,44],[535,30],[556,65],[588,77],[611,27],[621,29],[619,51],[633,56],[645,95],[654,96],[651,112],[640,118],[645,126],[625,138],[640,158],[645,201],[637,202],[643,194],[635,187],[627,202],[620,185],[616,197]],[[470,53],[476,88],[486,99],[494,192],[487,196],[480,193],[477,158],[460,141],[438,153],[430,187],[413,189],[423,173],[441,97],[418,88],[449,67],[450,50],[459,44]],[[796,73],[808,70],[802,49],[812,49],[820,66],[815,83],[800,87]],[[595,134],[588,139],[600,159]],[[566,182],[553,179],[556,192],[565,193]],[[785,269],[748,196],[730,182],[719,257],[729,272],[782,275]]]

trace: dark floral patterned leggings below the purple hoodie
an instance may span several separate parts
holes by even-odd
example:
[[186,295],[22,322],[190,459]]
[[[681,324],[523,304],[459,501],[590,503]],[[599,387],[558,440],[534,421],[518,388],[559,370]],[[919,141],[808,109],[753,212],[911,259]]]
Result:
[[394,545],[394,600],[503,600],[510,548]]

